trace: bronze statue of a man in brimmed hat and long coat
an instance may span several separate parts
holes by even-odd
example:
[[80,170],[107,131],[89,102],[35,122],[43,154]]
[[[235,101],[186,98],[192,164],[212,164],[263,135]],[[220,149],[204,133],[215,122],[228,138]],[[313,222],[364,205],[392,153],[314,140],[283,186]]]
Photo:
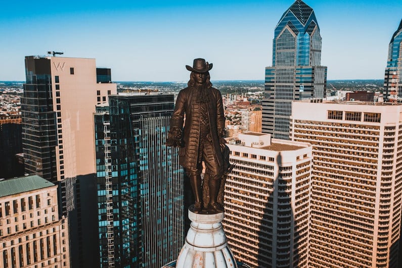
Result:
[[[188,87],[178,93],[166,145],[179,147],[179,164],[190,178],[195,197],[194,212],[222,212],[223,207],[217,202],[220,181],[227,169],[221,152],[221,146],[225,146],[222,95],[209,81],[212,64],[195,59],[193,67],[186,65],[186,68],[191,71],[190,81]],[[203,191],[207,202],[203,200]]]

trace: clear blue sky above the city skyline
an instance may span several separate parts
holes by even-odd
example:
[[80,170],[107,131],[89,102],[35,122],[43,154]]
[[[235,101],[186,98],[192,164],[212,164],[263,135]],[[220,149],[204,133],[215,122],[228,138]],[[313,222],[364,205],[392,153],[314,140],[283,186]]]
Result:
[[[272,39],[293,0],[4,1],[0,81],[25,80],[24,57],[95,58],[114,81],[185,81],[205,58],[211,80],[263,80]],[[305,0],[323,38],[328,79],[383,79],[402,1]]]

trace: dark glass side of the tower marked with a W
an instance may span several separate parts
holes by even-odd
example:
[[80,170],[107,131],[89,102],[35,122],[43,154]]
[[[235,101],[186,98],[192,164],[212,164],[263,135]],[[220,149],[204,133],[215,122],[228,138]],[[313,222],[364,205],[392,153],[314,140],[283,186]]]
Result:
[[51,62],[25,57],[26,83],[21,98],[25,171],[57,182],[56,113],[53,110]]

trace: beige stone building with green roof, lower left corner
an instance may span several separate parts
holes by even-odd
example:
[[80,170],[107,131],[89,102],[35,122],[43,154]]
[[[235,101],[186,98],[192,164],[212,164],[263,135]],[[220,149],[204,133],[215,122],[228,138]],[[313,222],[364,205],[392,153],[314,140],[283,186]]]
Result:
[[32,175],[0,180],[0,267],[70,267],[57,185]]

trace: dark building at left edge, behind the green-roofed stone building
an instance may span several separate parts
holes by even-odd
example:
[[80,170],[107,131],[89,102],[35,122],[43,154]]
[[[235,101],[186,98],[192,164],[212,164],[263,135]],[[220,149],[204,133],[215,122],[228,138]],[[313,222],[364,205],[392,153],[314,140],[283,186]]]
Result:
[[24,164],[16,154],[22,152],[20,115],[0,115],[0,178],[24,175]]

